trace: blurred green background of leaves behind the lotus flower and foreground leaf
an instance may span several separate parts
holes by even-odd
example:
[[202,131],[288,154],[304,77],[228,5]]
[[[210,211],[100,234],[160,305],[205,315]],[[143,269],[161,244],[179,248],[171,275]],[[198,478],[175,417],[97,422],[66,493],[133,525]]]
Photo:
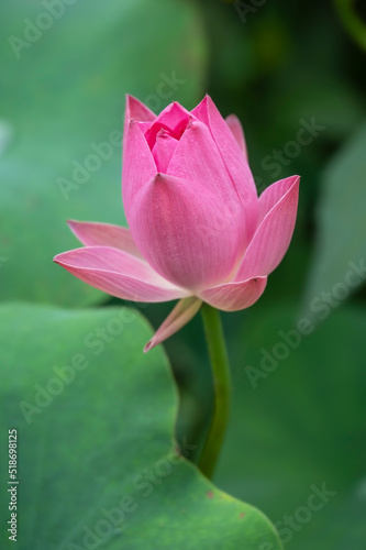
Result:
[[[125,94],[158,112],[209,92],[243,122],[259,191],[301,175],[286,258],[255,306],[222,315],[234,400],[214,480],[279,530],[293,517],[293,550],[366,546],[366,12],[351,3],[78,0],[51,19],[44,2],[0,8],[2,301],[121,305],[52,257],[77,246],[66,219],[125,223],[121,147],[80,172],[122,130]],[[171,309],[133,306],[154,327]],[[165,348],[178,439],[196,444],[212,398],[199,316]],[[324,484],[322,509],[299,512]]]

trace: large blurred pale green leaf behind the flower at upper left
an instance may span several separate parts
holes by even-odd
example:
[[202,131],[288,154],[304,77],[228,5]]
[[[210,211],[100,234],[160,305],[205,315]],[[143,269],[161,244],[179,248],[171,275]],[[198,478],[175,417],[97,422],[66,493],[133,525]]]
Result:
[[[47,15],[48,3],[64,13]],[[202,94],[207,48],[192,3],[71,3],[1,8],[0,256],[9,258],[2,299],[74,306],[103,298],[52,258],[78,245],[69,218],[124,223],[124,95],[158,111],[174,99],[192,108]],[[49,18],[49,29],[37,30]]]

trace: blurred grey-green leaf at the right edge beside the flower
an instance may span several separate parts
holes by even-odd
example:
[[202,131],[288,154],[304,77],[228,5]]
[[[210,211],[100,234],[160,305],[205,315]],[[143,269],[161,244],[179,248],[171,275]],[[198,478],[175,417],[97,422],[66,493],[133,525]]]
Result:
[[334,309],[366,279],[365,151],[363,125],[323,175],[315,252],[303,299],[313,319]]

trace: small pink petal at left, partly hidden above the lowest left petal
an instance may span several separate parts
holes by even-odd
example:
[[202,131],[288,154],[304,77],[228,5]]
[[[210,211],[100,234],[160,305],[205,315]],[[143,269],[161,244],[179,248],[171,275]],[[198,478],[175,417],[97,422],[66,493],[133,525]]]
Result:
[[73,233],[86,246],[112,246],[133,256],[143,257],[127,228],[91,221],[69,220],[67,223]]

